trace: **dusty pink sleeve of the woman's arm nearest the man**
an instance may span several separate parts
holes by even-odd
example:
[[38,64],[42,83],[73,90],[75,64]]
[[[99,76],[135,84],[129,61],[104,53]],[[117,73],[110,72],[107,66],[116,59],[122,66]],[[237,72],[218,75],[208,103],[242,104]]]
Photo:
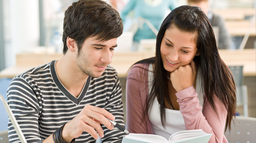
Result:
[[147,75],[143,67],[134,65],[127,75],[126,82],[126,122],[131,133],[148,133],[147,118],[143,120],[143,107],[146,100]]

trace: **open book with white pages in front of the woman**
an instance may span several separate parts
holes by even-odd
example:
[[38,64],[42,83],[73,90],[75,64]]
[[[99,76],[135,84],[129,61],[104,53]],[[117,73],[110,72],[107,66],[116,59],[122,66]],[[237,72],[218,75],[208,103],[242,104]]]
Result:
[[201,129],[178,131],[166,138],[142,133],[129,133],[123,138],[122,143],[208,143],[211,134],[205,133]]

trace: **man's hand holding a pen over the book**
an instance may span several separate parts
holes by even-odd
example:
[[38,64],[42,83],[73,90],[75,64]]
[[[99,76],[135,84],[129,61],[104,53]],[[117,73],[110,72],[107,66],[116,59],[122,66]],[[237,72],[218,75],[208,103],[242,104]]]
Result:
[[110,130],[114,128],[106,118],[110,120],[115,119],[115,117],[105,109],[85,105],[74,119],[65,124],[62,131],[62,138],[70,142],[73,138],[79,137],[83,131],[86,131],[95,139],[98,138],[98,132],[99,136],[102,138],[104,134],[100,124],[105,125]]

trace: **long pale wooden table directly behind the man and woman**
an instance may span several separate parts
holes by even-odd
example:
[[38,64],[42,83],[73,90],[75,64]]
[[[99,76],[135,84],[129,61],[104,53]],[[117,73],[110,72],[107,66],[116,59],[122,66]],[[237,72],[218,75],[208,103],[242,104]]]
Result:
[[[220,56],[227,65],[244,65],[244,76],[256,76],[256,49],[219,50]],[[112,65],[120,78],[125,78],[130,66],[144,58],[154,56],[154,52],[114,53]],[[16,65],[0,71],[0,78],[13,78],[28,68],[56,60],[62,54],[17,54]]]

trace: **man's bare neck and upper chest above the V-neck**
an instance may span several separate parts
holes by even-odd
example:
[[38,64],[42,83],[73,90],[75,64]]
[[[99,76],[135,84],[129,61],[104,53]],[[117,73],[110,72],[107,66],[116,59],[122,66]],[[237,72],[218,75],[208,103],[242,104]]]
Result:
[[[68,53],[66,53],[68,54]],[[55,70],[62,85],[75,97],[78,97],[89,75],[78,70],[73,58],[64,55],[55,63]]]

